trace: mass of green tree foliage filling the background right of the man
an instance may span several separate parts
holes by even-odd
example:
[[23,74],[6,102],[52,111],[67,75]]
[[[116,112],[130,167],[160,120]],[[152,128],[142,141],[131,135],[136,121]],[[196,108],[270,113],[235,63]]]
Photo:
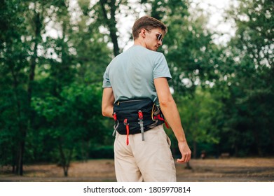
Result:
[[237,28],[227,47],[212,42],[206,15],[175,10],[166,19],[163,52],[194,157],[198,144],[236,156],[273,153],[273,2],[238,3],[226,16]]

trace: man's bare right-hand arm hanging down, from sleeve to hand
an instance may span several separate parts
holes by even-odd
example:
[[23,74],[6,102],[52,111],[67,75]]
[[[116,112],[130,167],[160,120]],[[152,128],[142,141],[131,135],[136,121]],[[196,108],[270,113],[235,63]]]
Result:
[[178,141],[179,151],[181,152],[181,159],[177,159],[177,162],[189,162],[191,159],[191,150],[186,142],[183,127],[181,125],[181,118],[177,105],[174,102],[172,94],[170,93],[170,86],[167,83],[166,78],[154,79],[154,85],[156,87],[160,109],[167,120],[167,123],[172,128],[174,135]]

